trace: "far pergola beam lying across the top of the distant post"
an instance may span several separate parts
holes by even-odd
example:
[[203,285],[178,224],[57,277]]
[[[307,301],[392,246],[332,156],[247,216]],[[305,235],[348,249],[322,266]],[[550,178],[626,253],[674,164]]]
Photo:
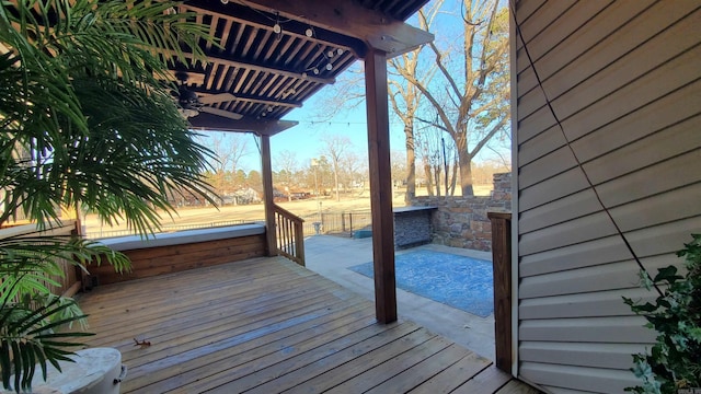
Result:
[[193,129],[255,132],[261,136],[274,136],[299,124],[295,120],[263,120],[249,117],[233,120],[207,113],[200,113],[187,120]]

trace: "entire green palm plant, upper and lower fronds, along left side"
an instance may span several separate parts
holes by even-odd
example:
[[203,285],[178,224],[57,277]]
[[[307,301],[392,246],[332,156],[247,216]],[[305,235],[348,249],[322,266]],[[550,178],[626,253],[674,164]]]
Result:
[[[23,212],[49,230],[61,207],[126,221],[148,235],[169,197],[204,199],[210,152],[194,142],[163,82],[169,65],[204,60],[210,42],[192,12],[173,1],[0,0],[0,227]],[[216,43],[212,43],[216,45]],[[183,48],[195,58],[185,57]],[[71,236],[0,240],[0,374],[30,387],[85,333],[57,328],[84,316],[47,283],[59,260],[87,269],[100,259],[128,269],[126,257]],[[11,375],[15,379],[11,381]]]

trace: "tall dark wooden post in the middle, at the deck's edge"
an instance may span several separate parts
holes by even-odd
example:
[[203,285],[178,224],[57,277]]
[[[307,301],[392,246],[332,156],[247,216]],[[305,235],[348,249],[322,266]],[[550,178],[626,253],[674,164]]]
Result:
[[378,322],[392,323],[397,321],[397,288],[387,55],[384,53],[370,49],[366,54],[365,89],[368,116],[370,208],[372,210],[375,310]]

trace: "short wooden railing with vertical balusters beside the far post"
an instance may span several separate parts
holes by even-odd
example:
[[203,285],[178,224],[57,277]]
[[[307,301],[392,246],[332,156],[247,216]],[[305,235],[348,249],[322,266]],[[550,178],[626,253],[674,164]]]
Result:
[[273,205],[277,253],[304,266],[304,220],[295,213]]

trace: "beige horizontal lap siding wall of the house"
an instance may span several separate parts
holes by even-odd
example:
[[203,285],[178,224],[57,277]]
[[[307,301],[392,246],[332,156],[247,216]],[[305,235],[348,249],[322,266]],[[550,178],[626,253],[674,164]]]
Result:
[[622,393],[654,340],[621,300],[653,294],[611,218],[653,274],[701,232],[700,5],[515,4],[542,81],[514,31],[517,369],[548,392]]

